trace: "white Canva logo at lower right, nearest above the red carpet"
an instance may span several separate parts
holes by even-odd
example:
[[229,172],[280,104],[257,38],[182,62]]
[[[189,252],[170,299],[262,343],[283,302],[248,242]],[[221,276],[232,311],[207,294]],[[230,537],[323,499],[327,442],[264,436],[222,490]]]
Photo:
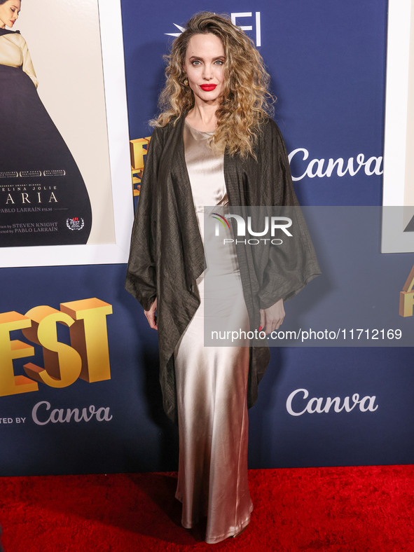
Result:
[[339,396],[324,397],[312,397],[308,399],[308,389],[295,389],[288,396],[286,401],[286,409],[291,416],[301,416],[303,414],[327,414],[333,412],[352,412],[354,408],[359,408],[361,412],[375,412],[378,405],[375,404],[374,396],[360,397],[358,393],[354,393],[352,396],[345,396],[344,399],[340,399]]

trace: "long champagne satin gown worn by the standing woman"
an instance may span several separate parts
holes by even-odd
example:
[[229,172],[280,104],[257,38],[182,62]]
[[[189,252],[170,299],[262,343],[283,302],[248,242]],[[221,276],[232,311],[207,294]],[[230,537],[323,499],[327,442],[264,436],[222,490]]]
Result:
[[249,341],[204,346],[205,316],[249,331],[235,249],[208,247],[214,224],[205,229],[205,206],[228,204],[223,155],[209,149],[211,134],[184,125],[186,165],[207,268],[197,280],[200,307],[177,344],[174,366],[181,523],[190,528],[207,516],[205,540],[213,544],[240,532],[249,523],[253,505],[247,481]]

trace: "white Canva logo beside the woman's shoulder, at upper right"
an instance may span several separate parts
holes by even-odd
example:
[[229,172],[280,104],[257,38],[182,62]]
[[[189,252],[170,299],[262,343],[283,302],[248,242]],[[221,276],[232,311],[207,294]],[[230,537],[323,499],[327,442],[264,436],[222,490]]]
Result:
[[[292,160],[295,161],[308,161],[309,151],[305,148],[294,149],[289,153],[289,163]],[[329,158],[326,159],[312,159],[302,169],[302,174],[296,175],[292,170],[292,180],[302,180],[305,177],[308,178],[330,178],[332,174],[336,174],[337,177],[345,177],[345,174],[349,174],[354,177],[359,171],[363,170],[368,177],[373,174],[380,176],[382,174],[382,157],[368,157],[364,156],[364,153],[358,153],[353,158],[345,160],[342,157],[338,159]]]

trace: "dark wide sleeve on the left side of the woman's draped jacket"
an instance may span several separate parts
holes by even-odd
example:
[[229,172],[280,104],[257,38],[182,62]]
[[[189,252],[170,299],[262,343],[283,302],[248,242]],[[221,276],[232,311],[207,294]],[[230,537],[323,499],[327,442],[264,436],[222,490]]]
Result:
[[156,128],[146,153],[125,280],[125,289],[144,310],[149,310],[157,296],[156,188],[161,151],[160,129]]

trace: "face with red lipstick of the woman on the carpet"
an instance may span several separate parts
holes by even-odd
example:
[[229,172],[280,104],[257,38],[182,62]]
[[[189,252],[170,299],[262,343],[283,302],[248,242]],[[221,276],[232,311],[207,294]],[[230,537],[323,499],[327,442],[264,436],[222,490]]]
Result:
[[219,105],[225,84],[223,42],[212,33],[194,34],[188,41],[184,70],[195,103]]

